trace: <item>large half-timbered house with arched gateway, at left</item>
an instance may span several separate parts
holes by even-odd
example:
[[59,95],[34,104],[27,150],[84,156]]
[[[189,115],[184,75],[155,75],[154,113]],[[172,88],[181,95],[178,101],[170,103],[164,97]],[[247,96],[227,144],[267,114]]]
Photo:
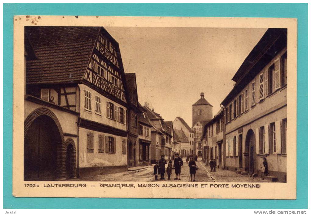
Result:
[[27,26],[25,57],[24,179],[127,170],[128,94],[111,35],[102,27]]

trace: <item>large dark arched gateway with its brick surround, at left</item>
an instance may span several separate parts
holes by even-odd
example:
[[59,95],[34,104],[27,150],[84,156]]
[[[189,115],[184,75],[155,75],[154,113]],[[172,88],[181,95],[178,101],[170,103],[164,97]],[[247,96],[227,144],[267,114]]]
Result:
[[51,181],[66,177],[66,146],[55,114],[37,108],[24,122],[24,180]]

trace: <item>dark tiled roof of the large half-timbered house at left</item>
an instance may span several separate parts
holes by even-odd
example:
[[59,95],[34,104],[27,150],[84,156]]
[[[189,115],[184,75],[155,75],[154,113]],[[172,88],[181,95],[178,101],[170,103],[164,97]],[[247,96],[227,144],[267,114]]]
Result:
[[26,26],[35,60],[26,61],[26,83],[71,83],[81,80],[100,27]]

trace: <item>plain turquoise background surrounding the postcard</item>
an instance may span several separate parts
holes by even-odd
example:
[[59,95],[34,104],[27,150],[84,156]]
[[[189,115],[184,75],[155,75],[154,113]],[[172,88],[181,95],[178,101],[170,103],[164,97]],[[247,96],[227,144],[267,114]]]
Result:
[[[210,16],[298,18],[297,199],[97,199],[12,196],[13,16]],[[308,4],[3,4],[3,208],[308,208]],[[248,190],[251,192],[252,190]]]

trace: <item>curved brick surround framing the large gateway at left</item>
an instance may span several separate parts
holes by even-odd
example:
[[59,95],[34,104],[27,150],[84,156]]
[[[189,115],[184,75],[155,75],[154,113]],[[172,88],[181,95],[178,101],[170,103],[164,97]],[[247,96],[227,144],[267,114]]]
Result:
[[56,149],[56,180],[62,180],[66,178],[66,145],[65,145],[65,140],[64,140],[64,133],[62,126],[60,125],[60,122],[58,121],[58,118],[56,115],[49,110],[48,108],[37,108],[33,112],[31,112],[28,117],[26,118],[24,122],[24,139],[26,138],[27,132],[31,124],[35,121],[36,118],[40,116],[48,116],[50,117],[56,124],[59,135],[60,135],[60,140],[58,141],[57,144],[57,149]]

